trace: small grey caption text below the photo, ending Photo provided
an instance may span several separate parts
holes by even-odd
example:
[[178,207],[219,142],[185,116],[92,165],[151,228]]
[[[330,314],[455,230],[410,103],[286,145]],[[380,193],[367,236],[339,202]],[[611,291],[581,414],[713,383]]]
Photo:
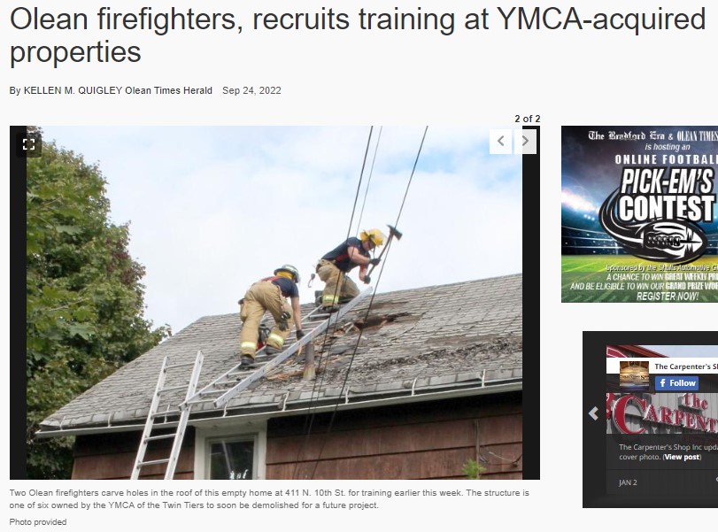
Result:
[[[486,497],[529,497],[528,490],[476,489],[120,489],[120,490],[10,490],[11,526],[72,524],[77,513],[120,511],[150,513],[198,510],[221,511],[356,511],[386,509],[392,502],[407,499],[442,498],[460,502]],[[70,513],[67,513],[70,512]]]

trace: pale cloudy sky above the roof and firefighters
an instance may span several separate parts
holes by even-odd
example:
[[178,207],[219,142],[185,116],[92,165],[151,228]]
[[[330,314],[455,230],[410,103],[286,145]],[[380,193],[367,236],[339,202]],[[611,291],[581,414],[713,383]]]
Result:
[[319,258],[388,224],[403,235],[372,274],[377,292],[521,273],[521,157],[489,155],[485,127],[429,126],[418,161],[424,126],[41,127],[99,167],[146,269],[144,317],[173,333],[239,312],[283,264],[313,301]]

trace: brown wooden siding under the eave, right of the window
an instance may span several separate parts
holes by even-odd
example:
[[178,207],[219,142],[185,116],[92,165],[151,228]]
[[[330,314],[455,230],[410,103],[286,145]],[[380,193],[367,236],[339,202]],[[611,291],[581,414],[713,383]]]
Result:
[[[270,420],[268,479],[521,479],[521,394]],[[515,462],[515,463],[514,463]]]

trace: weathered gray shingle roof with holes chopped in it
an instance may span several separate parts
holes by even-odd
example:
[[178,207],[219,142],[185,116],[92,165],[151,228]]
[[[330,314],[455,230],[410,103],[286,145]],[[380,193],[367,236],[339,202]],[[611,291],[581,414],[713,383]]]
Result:
[[[520,382],[521,280],[514,274],[380,293],[368,317],[367,297],[340,321],[344,327],[314,342],[319,368],[314,381],[302,379],[303,365],[292,356],[235,396],[227,412],[278,412],[310,400]],[[313,305],[302,309],[305,314]],[[142,423],[167,355],[174,363],[192,362],[201,350],[202,387],[238,363],[240,330],[237,313],[200,318],[43,420],[42,430]],[[166,386],[186,382],[190,371],[174,370]],[[179,405],[184,393],[168,395],[169,407]],[[193,412],[212,410],[205,404]]]

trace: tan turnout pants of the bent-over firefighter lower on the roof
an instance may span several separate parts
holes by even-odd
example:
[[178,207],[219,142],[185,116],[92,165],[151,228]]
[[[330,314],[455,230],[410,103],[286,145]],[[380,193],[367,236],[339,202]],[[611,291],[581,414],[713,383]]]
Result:
[[[257,281],[244,294],[244,303],[239,312],[239,319],[243,323],[242,333],[239,336],[239,351],[242,355],[254,358],[259,339],[259,322],[266,311],[269,311],[274,318],[274,328],[269,333],[266,344],[278,350],[284,347],[284,340],[290,335],[291,307],[287,304],[286,298],[282,297],[282,290],[277,285],[271,281]],[[290,314],[285,331],[277,327],[282,312]]]

